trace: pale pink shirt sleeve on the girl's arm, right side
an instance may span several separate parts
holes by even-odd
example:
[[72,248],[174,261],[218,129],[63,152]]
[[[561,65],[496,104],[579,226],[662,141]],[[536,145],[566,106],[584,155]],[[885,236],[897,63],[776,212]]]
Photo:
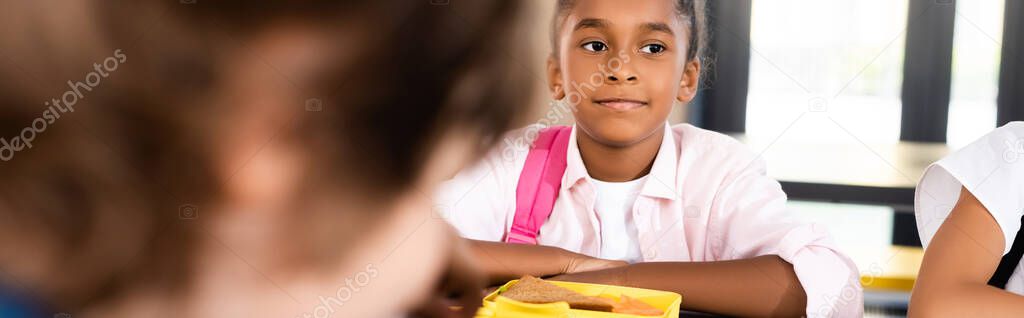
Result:
[[861,316],[863,294],[853,261],[835,246],[824,227],[794,218],[778,181],[766,176],[763,161],[749,151],[734,153],[746,155],[734,156],[740,165],[733,167],[741,168],[726,178],[709,209],[703,256],[699,259],[729,261],[772,256],[787,263],[784,269],[790,276],[765,275],[778,283],[799,283],[803,293],[785,296],[800,298],[805,315]]

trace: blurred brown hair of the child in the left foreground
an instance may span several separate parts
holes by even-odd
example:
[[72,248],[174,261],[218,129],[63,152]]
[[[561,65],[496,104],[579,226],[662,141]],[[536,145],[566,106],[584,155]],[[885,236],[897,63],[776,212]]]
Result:
[[[36,288],[58,309],[117,298],[139,284],[179,288],[197,241],[178,218],[182,205],[222,199],[215,169],[218,134],[244,105],[203,101],[225,83],[219,65],[275,22],[337,30],[328,46],[353,52],[295,83],[323,98],[323,111],[297,100],[295,129],[275,142],[308,151],[307,196],[338,183],[385,198],[409,191],[438,137],[459,129],[479,149],[517,120],[528,78],[509,57],[518,1],[18,1],[0,13],[0,137],[32,125],[92,63],[123,50],[127,60],[38,134],[32,148],[0,162],[0,284]],[[369,35],[345,47],[349,34]],[[237,44],[236,44],[237,45]],[[242,45],[244,46],[244,45]],[[319,191],[315,189],[321,189]],[[357,226],[374,212],[300,209],[295,226]],[[209,211],[202,211],[205,218]],[[291,213],[291,212],[290,212]],[[327,219],[325,219],[327,218]],[[305,222],[305,223],[303,223]],[[347,225],[345,225],[347,224]],[[302,231],[297,231],[302,233]],[[334,243],[347,231],[303,240]],[[315,255],[311,253],[310,255]],[[338,258],[328,259],[337,260]],[[315,260],[314,260],[315,261]],[[32,264],[32,265],[29,265]],[[42,288],[19,277],[51,277]]]

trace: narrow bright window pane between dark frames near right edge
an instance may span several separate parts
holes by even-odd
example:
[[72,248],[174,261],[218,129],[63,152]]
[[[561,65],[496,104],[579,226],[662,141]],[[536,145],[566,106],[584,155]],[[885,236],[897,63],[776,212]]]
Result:
[[953,148],[995,128],[1005,1],[956,1],[946,135]]

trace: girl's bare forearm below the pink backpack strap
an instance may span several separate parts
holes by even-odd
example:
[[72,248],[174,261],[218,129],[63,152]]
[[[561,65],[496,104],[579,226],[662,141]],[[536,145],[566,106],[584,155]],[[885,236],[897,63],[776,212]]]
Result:
[[501,284],[523,275],[548,277],[626,265],[626,262],[591,258],[554,246],[469,241],[490,284]]

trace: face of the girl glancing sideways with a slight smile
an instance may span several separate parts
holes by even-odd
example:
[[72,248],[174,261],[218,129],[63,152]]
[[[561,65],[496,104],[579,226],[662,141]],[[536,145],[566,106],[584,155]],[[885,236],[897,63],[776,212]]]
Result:
[[578,127],[608,146],[654,135],[675,100],[696,93],[699,62],[686,60],[689,27],[672,0],[578,0],[548,60],[555,99],[575,106]]

